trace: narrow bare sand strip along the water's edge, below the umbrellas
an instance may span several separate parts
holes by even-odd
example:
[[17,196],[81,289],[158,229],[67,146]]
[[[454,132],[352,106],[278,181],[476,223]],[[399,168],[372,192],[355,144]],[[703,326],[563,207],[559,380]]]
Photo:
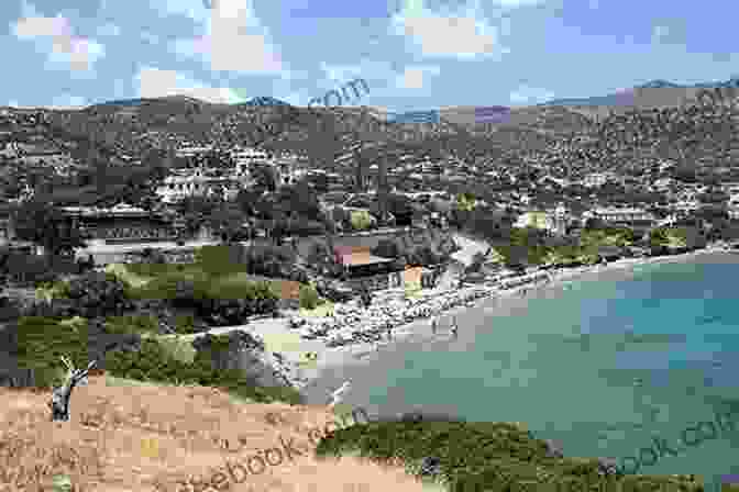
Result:
[[[605,265],[549,270],[549,280],[539,282],[532,281],[510,289],[500,289],[490,286],[489,282],[483,282],[479,284],[467,284],[462,289],[449,291],[429,290],[424,293],[424,295],[422,295],[420,300],[413,300],[408,304],[412,304],[413,302],[417,304],[433,304],[434,301],[438,303],[440,299],[464,299],[467,295],[474,297],[475,293],[478,293],[479,295],[476,299],[462,301],[457,305],[440,310],[438,314],[435,314],[437,317],[443,321],[446,318],[460,316],[466,312],[474,311],[475,309],[486,308],[490,311],[505,311],[505,308],[511,306],[514,304],[525,305],[532,295],[541,294],[547,291],[551,292],[561,289],[569,289],[567,286],[574,282],[592,280],[618,280],[620,278],[626,279],[632,277],[633,273],[637,272],[637,269],[643,268],[646,266],[669,262],[687,262],[704,256],[726,258],[732,255],[726,249],[709,247],[679,255],[622,258]],[[736,260],[739,260],[739,256],[736,256]],[[607,278],[598,279],[597,276],[607,276]],[[375,302],[377,301],[373,301],[373,306]],[[382,311],[383,308],[385,306],[379,306],[378,310]],[[422,308],[417,311],[422,311]],[[299,369],[298,372],[300,376],[297,378],[297,380],[293,381],[293,384],[297,390],[302,392],[304,390],[307,390],[308,387],[312,387],[318,383],[318,381],[322,379],[322,376],[327,371],[349,365],[367,365],[374,359],[373,356],[380,354],[383,350],[393,350],[396,345],[401,343],[435,344],[452,343],[455,340],[455,338],[452,338],[449,333],[449,322],[441,323],[442,327],[439,329],[439,332],[437,334],[432,334],[430,329],[430,314],[421,314],[411,321],[395,325],[393,327],[393,337],[389,340],[383,338],[377,342],[348,343],[346,345],[339,347],[329,346],[328,337],[320,337],[320,340],[306,340],[312,344],[318,343],[321,345],[319,358],[316,361],[313,368]],[[357,325],[361,325],[361,321],[354,321],[354,323],[349,322],[342,329],[351,329],[356,332],[359,327]]]

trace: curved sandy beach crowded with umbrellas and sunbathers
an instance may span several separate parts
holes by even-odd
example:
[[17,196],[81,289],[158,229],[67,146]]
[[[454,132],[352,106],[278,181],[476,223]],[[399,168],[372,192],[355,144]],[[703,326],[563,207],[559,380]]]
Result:
[[[544,281],[511,289],[501,289],[489,282],[451,290],[424,289],[417,300],[406,300],[402,289],[393,289],[377,292],[367,310],[361,308],[357,301],[337,304],[334,316],[304,318],[306,325],[298,328],[290,326],[289,318],[279,317],[254,320],[245,325],[213,328],[208,333],[217,335],[242,329],[268,340],[267,361],[277,366],[279,372],[309,400],[318,403],[317,394],[320,394],[319,400],[324,399],[326,388],[337,382],[331,377],[327,378],[330,372],[341,372],[342,368],[350,366],[372,365],[383,354],[402,351],[409,347],[423,350],[452,350],[454,347],[463,347],[474,338],[475,325],[483,315],[522,315],[531,299],[556,299],[577,282],[626,280],[651,265],[690,262],[698,257],[702,261],[710,258],[723,262],[739,261],[739,255],[706,248],[681,255],[625,258],[605,265],[552,269],[548,271],[548,279]],[[432,333],[430,322],[432,315],[439,320],[435,334]],[[387,336],[383,316],[393,320],[391,338]],[[406,321],[407,317],[413,318]],[[457,337],[450,333],[454,318],[460,326]],[[317,329],[323,335],[316,336]],[[340,333],[345,334],[346,338],[338,337],[337,334]],[[197,336],[202,334],[186,335],[185,338]],[[354,339],[350,339],[352,336]],[[363,342],[364,336],[372,339]],[[286,342],[275,344],[276,339]],[[335,346],[337,339],[345,342]],[[274,357],[273,353],[277,356]],[[315,354],[316,358],[307,364],[306,353]],[[321,381],[323,379],[327,381]],[[341,382],[338,381],[335,385]]]

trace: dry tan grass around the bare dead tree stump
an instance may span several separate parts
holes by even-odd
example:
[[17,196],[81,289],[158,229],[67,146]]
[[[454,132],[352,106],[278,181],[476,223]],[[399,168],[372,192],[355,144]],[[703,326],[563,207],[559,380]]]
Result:
[[49,422],[47,392],[0,389],[0,491],[51,491],[58,474],[67,474],[76,491],[189,491],[177,481],[209,481],[227,459],[245,466],[256,451],[280,448],[280,437],[295,439],[305,456],[285,457],[243,483],[229,482],[228,490],[424,490],[399,466],[315,458],[309,431],[334,426],[324,407],[244,404],[212,388],[107,381],[93,376],[75,390],[67,423]]

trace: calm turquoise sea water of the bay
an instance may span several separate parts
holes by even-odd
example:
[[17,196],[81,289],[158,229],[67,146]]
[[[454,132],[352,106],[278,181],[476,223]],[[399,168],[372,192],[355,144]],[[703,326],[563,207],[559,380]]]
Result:
[[718,431],[694,447],[680,444],[681,433],[715,421],[717,409],[739,409],[730,403],[739,402],[737,279],[739,265],[653,265],[629,280],[572,283],[505,315],[483,306],[460,318],[460,340],[406,343],[327,373],[313,396],[351,379],[349,403],[370,414],[423,409],[523,422],[566,456],[619,462],[659,436],[682,450],[641,473],[713,481],[739,472],[739,422],[734,435]]

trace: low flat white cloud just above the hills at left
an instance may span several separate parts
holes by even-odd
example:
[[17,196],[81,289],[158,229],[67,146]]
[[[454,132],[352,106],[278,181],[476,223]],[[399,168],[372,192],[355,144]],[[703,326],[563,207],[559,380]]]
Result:
[[136,75],[136,81],[141,98],[188,96],[207,102],[229,104],[244,100],[243,96],[233,89],[211,87],[175,70],[142,67]]

